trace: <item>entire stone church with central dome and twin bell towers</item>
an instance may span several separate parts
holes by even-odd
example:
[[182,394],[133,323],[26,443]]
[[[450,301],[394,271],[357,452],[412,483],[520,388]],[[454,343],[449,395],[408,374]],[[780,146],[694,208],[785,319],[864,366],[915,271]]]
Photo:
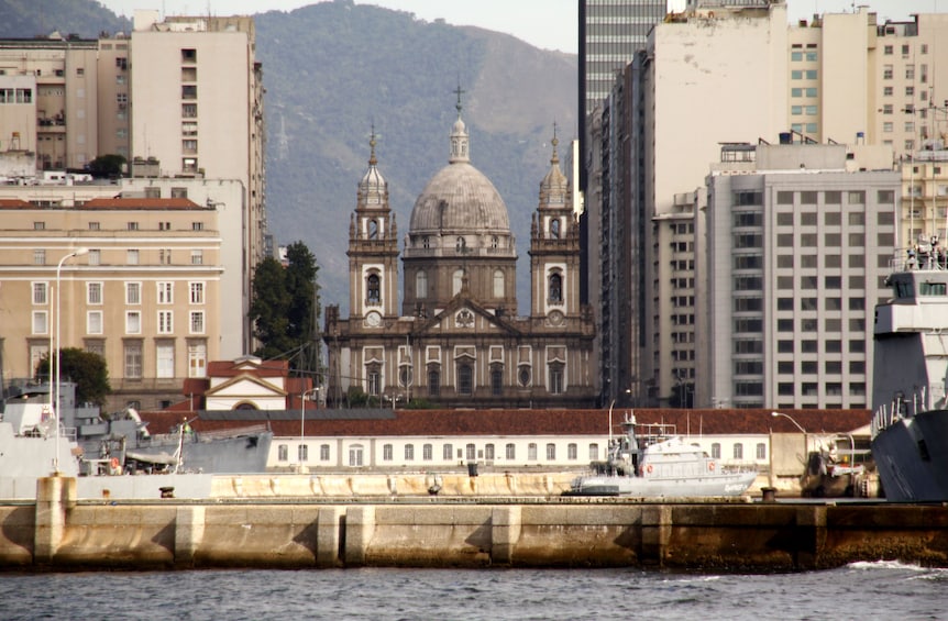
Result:
[[401,253],[375,141],[349,232],[350,317],[326,310],[327,400],[351,390],[442,408],[595,404],[594,321],[580,304],[580,236],[556,138],[530,231],[530,314],[517,315],[507,207],[471,164],[461,118],[448,165],[415,202]]

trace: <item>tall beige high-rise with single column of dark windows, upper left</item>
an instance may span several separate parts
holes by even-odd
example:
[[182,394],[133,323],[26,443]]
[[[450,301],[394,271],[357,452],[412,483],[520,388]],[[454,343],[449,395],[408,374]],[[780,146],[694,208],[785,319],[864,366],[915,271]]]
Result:
[[[255,36],[249,16],[159,21],[157,11],[136,11],[130,56],[133,158],[157,159],[159,176],[244,185],[247,293],[266,234],[264,89]],[[244,315],[249,300],[244,296]],[[243,339],[250,352],[249,324]]]

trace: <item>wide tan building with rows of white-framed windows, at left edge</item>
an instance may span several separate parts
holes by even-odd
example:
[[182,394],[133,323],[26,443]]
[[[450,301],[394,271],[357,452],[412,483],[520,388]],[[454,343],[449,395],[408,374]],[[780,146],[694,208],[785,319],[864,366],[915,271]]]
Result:
[[37,202],[0,199],[3,378],[33,377],[58,323],[62,347],[106,358],[109,409],[178,400],[184,379],[220,357],[217,209],[186,198]]

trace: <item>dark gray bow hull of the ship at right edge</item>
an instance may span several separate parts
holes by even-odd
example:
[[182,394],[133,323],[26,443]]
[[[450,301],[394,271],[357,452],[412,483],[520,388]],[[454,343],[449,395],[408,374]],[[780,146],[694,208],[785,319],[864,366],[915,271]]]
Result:
[[872,439],[872,455],[888,500],[948,500],[948,410],[893,422]]

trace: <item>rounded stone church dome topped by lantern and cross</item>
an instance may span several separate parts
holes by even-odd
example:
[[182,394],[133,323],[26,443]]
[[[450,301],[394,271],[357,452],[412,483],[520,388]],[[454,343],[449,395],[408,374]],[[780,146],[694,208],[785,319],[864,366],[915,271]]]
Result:
[[510,233],[507,206],[494,184],[471,165],[467,127],[461,120],[451,127],[451,154],[448,166],[428,181],[411,210],[409,233]]

